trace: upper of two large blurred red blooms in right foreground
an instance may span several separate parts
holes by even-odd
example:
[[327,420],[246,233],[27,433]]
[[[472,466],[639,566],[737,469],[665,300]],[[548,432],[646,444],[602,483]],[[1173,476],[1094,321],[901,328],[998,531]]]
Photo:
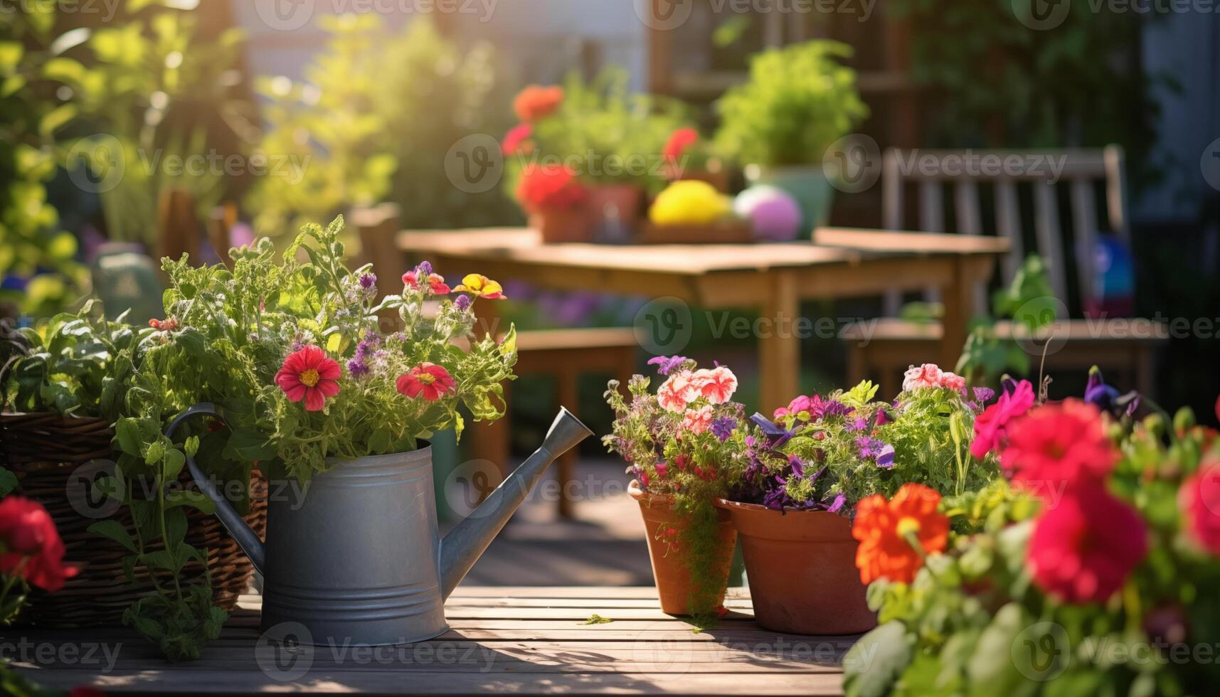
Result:
[[1002,461],[1014,482],[1035,486],[1100,481],[1114,469],[1118,450],[1105,437],[1102,413],[1068,399],[1044,404],[1017,421]]

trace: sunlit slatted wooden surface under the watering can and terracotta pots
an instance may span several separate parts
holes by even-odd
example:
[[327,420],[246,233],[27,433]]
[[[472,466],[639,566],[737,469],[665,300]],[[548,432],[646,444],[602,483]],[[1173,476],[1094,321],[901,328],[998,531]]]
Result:
[[[189,663],[166,663],[127,627],[0,630],[18,670],[48,686],[109,693],[255,692],[465,695],[838,695],[855,636],[797,636],[754,624],[749,593],[695,634],[662,614],[651,587],[459,587],[450,630],[405,647],[283,648],[260,635],[244,596],[221,637]],[[586,624],[593,615],[610,619]],[[278,637],[277,637],[278,638]],[[117,658],[104,658],[109,649]]]

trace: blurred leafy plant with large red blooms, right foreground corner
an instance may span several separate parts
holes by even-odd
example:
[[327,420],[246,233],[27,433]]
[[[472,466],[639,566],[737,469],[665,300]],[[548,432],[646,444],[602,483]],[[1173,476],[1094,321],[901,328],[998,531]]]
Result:
[[1006,476],[920,516],[949,530],[936,546],[908,542],[893,502],[861,510],[887,541],[860,559],[882,624],[844,659],[847,695],[1214,692],[1220,441],[1138,403],[1094,374],[1085,400],[985,438]]

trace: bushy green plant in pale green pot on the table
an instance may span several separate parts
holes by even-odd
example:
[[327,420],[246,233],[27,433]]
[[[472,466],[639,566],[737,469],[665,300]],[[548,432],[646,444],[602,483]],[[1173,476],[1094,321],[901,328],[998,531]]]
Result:
[[[813,40],[750,59],[749,81],[716,103],[719,149],[745,165],[750,184],[772,184],[800,204],[806,229],[826,225],[833,187],[826,149],[869,115],[847,44]],[[830,164],[826,168],[830,168]]]

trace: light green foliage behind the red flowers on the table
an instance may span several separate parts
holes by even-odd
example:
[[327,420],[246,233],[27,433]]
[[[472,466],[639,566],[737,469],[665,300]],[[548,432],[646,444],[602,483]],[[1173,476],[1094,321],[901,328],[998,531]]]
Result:
[[605,68],[588,83],[569,73],[562,104],[534,125],[533,151],[510,161],[510,171],[531,162],[562,165],[589,183],[664,188],[665,143],[689,115],[678,101],[632,93],[628,79],[622,68]]

